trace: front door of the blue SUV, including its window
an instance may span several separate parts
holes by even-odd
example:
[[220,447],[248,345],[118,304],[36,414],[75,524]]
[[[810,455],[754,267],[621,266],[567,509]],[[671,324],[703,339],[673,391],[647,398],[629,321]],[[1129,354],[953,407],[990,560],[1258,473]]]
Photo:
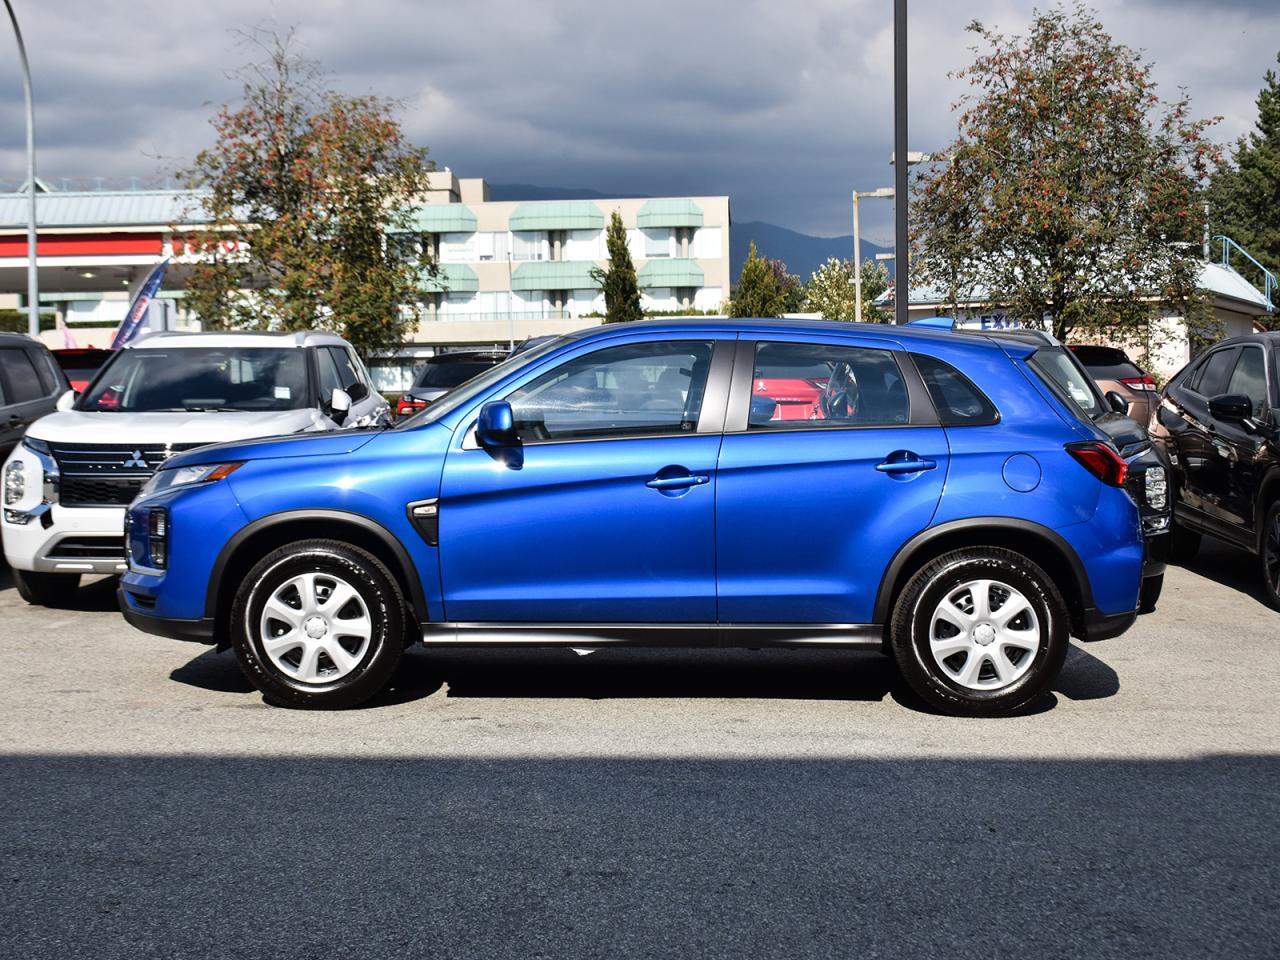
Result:
[[712,623],[732,339],[591,343],[504,397],[521,447],[458,429],[439,498],[451,621]]

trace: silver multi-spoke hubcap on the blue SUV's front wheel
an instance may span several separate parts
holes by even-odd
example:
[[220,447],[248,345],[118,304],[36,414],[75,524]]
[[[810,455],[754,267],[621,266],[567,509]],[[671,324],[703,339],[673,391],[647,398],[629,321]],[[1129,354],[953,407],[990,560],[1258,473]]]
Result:
[[356,668],[374,636],[369,607],[356,588],[332,573],[285,580],[262,607],[262,649],[288,677],[332,684]]

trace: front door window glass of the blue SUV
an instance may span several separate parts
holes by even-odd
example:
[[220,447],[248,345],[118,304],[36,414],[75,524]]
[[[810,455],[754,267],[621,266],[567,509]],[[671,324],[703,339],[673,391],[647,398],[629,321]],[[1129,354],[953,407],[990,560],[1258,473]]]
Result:
[[607,347],[561,364],[507,397],[525,443],[694,433],[712,343]]

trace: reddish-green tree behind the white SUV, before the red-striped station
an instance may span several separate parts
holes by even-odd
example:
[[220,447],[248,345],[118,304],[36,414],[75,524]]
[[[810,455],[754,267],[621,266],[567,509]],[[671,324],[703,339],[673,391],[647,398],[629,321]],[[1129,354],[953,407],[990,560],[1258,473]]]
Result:
[[242,102],[218,110],[215,145],[184,172],[209,219],[189,242],[202,257],[186,302],[211,329],[332,329],[362,353],[393,348],[434,269],[416,244],[387,242],[413,232],[426,150],[406,141],[394,101],[325,88],[289,36],[250,40],[265,60],[244,68]]

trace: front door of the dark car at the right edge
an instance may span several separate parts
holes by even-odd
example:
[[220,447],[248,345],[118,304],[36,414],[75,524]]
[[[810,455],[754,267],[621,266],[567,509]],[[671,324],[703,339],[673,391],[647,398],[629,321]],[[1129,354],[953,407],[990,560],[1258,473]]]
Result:
[[[1267,422],[1271,399],[1267,385],[1267,355],[1258,343],[1245,343],[1239,349],[1231,375],[1222,388],[1225,394],[1248,397],[1254,424]],[[1221,461],[1213,471],[1220,486],[1213,490],[1217,518],[1229,525],[1230,535],[1253,541],[1254,494],[1258,489],[1260,454],[1266,440],[1257,429],[1238,421],[1215,420],[1212,456]]]

